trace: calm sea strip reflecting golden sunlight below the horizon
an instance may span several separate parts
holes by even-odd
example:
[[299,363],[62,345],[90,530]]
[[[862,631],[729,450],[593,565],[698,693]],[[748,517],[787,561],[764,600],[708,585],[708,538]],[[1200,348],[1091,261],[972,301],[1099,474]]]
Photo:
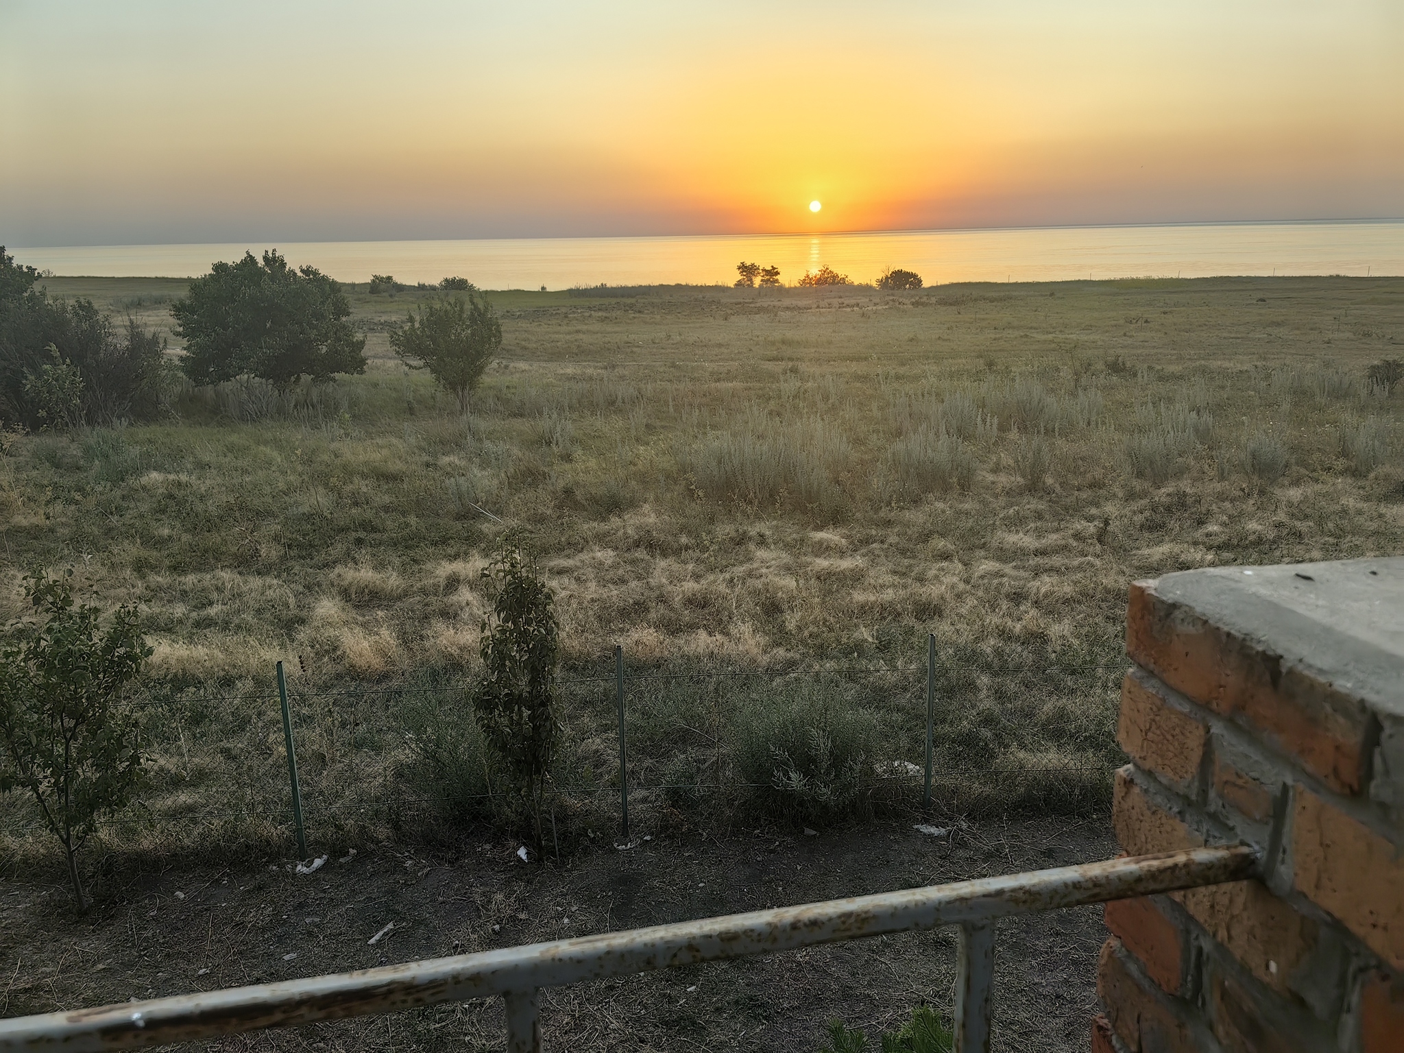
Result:
[[730,284],[740,260],[775,264],[793,284],[833,267],[873,281],[904,267],[928,285],[970,281],[1203,278],[1217,275],[1400,275],[1404,220],[1179,223],[1167,226],[913,230],[854,234],[541,237],[461,241],[247,241],[227,244],[11,249],[56,275],[190,277],[216,260],[278,249],[347,282],[462,275],[484,289],[578,285]]

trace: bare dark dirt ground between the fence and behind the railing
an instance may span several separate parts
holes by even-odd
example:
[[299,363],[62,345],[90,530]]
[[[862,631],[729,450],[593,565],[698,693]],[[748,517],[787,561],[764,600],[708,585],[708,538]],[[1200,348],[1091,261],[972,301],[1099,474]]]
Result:
[[[887,820],[814,835],[661,834],[560,865],[465,837],[365,847],[310,876],[286,861],[117,872],[87,918],[62,885],[0,882],[0,1015],[316,976],[456,952],[1105,859],[1105,819],[965,824],[949,840]],[[55,875],[58,880],[59,875]],[[393,922],[375,945],[368,941]],[[995,1049],[1085,1050],[1101,910],[998,928]],[[904,934],[543,991],[548,1049],[814,1050],[824,1021],[949,1011],[953,929]],[[222,1049],[501,1049],[501,1001],[236,1036]]]

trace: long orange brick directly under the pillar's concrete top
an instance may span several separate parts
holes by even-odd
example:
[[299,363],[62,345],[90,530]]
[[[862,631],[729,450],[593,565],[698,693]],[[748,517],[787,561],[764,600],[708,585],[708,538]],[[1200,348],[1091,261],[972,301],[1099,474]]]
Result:
[[1261,730],[1331,789],[1365,782],[1369,715],[1348,695],[1154,592],[1132,585],[1126,651],[1182,695]]

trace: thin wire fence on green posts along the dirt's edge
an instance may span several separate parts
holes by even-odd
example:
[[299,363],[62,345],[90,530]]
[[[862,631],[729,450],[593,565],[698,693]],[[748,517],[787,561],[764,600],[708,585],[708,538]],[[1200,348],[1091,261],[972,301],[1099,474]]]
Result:
[[[597,835],[628,840],[689,812],[715,817],[717,806],[804,823],[893,804],[1080,809],[1105,800],[1116,762],[1118,661],[938,661],[934,646],[924,664],[893,665],[667,668],[612,657],[612,670],[557,681],[563,747],[550,796],[562,819]],[[512,795],[477,730],[472,687],[432,671],[327,691],[293,677],[285,699],[300,823],[274,675],[260,691],[145,698],[146,782],[107,823],[157,841],[291,844],[302,826],[327,842],[500,819]],[[25,837],[42,821],[8,793],[0,830]]]

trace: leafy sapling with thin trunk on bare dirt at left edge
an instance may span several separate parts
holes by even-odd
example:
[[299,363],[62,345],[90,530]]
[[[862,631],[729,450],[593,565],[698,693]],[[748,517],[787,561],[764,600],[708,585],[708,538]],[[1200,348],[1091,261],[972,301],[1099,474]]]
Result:
[[77,854],[98,820],[131,800],[142,768],[136,722],[122,703],[152,649],[133,608],[101,630],[95,607],[73,607],[73,571],[25,577],[42,621],[17,621],[0,650],[0,790],[34,795],[63,844],[79,913]]

